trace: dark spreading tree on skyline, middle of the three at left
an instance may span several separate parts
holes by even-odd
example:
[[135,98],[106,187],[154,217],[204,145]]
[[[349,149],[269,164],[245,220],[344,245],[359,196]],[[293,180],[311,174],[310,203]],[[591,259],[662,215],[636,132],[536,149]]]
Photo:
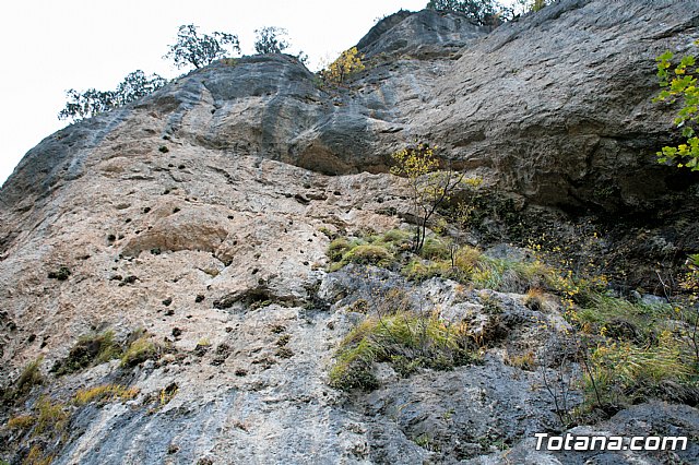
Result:
[[199,69],[214,60],[240,52],[238,36],[228,33],[197,33],[193,24],[179,26],[177,41],[163,58],[175,62],[177,68],[193,65]]

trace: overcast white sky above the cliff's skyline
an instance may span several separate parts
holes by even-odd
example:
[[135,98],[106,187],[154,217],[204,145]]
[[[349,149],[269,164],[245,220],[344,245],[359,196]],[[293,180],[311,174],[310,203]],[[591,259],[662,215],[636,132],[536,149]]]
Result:
[[162,59],[181,24],[237,34],[253,52],[256,28],[284,27],[310,68],[355,45],[377,17],[427,0],[22,0],[0,8],[0,184],[24,154],[67,126],[66,91],[112,90],[141,69],[180,74]]

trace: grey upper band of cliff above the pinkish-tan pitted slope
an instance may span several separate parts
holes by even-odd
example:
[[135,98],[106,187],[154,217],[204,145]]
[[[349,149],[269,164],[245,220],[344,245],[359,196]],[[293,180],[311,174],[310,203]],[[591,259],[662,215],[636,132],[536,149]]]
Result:
[[696,181],[655,164],[675,136],[651,97],[654,58],[688,49],[698,22],[687,2],[568,0],[491,33],[454,14],[399,12],[359,41],[367,70],[346,88],[320,86],[285,56],[198,70],[44,141],[3,200],[82,176],[103,138],[153,118],[165,122],[158,135],[330,175],[386,171],[394,150],[425,136],[537,204],[649,208]]

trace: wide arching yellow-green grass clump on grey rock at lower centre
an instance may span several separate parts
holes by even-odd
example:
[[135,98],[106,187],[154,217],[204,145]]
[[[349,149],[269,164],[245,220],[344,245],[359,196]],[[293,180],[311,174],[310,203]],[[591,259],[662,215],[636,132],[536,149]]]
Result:
[[330,370],[330,385],[341,390],[377,389],[371,373],[377,361],[390,362],[408,375],[420,367],[449,370],[475,359],[475,344],[465,325],[449,325],[435,314],[396,311],[369,318],[341,343]]

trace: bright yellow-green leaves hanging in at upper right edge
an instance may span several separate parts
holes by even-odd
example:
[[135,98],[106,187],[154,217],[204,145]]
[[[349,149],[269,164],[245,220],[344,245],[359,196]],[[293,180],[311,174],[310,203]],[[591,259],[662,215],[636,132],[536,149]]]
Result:
[[[699,44],[699,40],[695,44]],[[675,103],[682,100],[682,108],[677,112],[674,123],[682,129],[686,142],[676,147],[665,146],[657,152],[659,163],[672,163],[678,168],[687,167],[692,171],[699,171],[699,138],[696,130],[699,124],[699,88],[697,87],[696,57],[687,55],[673,63],[674,55],[665,51],[656,58],[657,78],[663,88],[653,102]]]

